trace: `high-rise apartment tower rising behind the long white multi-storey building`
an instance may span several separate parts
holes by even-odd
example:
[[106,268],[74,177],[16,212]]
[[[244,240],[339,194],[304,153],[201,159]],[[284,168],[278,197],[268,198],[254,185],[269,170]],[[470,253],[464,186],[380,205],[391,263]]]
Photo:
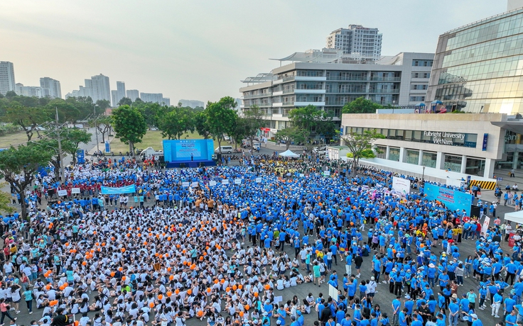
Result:
[[362,60],[378,60],[382,55],[382,34],[377,28],[349,25],[349,28],[338,28],[330,33],[326,47],[343,50],[343,53]]

